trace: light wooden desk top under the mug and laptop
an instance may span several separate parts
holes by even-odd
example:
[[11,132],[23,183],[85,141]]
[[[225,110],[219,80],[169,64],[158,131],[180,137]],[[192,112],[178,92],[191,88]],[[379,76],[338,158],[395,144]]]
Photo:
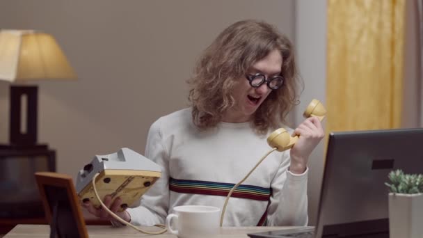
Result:
[[[286,227],[292,228],[292,227]],[[158,228],[145,228],[145,230],[157,230]],[[224,238],[249,238],[247,233],[260,232],[265,230],[281,230],[283,227],[237,227],[237,228],[221,228],[221,233],[216,237]],[[162,235],[146,235],[138,232],[130,227],[113,228],[108,225],[87,225],[88,235],[90,237],[104,237],[104,238],[132,238],[132,237],[156,237],[156,238],[176,238],[175,235],[165,233]],[[49,225],[17,225],[13,230],[3,238],[17,238],[17,237],[49,237]]]

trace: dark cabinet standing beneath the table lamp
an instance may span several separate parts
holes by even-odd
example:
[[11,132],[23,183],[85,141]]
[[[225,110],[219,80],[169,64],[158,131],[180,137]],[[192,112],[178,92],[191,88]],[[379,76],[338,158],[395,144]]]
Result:
[[47,145],[0,145],[0,233],[19,223],[46,223],[38,171],[56,171],[56,152]]

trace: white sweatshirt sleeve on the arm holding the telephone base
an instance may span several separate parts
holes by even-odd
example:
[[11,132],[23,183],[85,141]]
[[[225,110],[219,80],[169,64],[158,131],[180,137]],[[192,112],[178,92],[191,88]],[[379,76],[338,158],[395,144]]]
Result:
[[147,136],[145,157],[161,167],[161,177],[141,197],[141,205],[128,208],[131,223],[134,225],[163,224],[169,207],[169,171],[168,153],[163,145],[160,119],[152,124]]

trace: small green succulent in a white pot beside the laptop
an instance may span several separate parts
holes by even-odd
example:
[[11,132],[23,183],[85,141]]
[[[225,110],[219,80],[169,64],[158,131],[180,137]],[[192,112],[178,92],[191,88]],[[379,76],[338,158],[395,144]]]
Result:
[[394,170],[388,178],[390,238],[422,238],[423,175]]

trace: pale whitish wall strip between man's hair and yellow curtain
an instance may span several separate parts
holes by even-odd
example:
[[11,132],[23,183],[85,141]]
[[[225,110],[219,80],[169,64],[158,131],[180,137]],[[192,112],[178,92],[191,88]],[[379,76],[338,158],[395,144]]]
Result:
[[[297,0],[295,22],[298,65],[305,84],[301,104],[295,111],[298,125],[304,120],[303,111],[312,99],[326,104],[326,0]],[[309,158],[308,216],[312,225],[317,222],[325,149],[322,140]]]

